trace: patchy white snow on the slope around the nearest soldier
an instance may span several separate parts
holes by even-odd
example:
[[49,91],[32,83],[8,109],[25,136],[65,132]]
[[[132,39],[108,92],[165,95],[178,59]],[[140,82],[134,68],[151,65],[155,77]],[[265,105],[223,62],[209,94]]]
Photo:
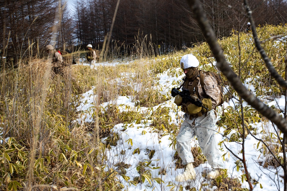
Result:
[[[179,73],[180,68],[173,69],[173,71]],[[158,74],[158,86],[154,87],[160,90],[162,94],[170,94],[171,88],[176,85],[173,85],[174,82],[181,80],[184,76],[175,77],[175,72],[170,70]],[[255,89],[250,83],[252,79],[247,79],[245,81],[245,86],[249,90],[253,91],[255,94]],[[92,113],[94,106],[94,100],[96,95],[94,95],[93,89],[83,94],[83,99],[81,104],[77,109],[83,111],[81,117],[78,119],[78,123],[82,122],[91,122],[93,121]],[[172,123],[177,124],[176,119],[176,105],[173,103],[174,99],[166,101],[158,106],[155,106],[153,109],[158,107],[169,107],[169,115],[172,119]],[[120,108],[120,111],[137,111],[141,113],[146,113],[151,111],[150,108],[146,107],[135,107],[135,103],[132,102],[130,96],[120,96],[117,100],[103,103],[102,106],[105,107],[109,103],[117,104]],[[274,105],[277,108],[284,109],[284,96],[281,98],[275,99],[272,102],[269,102],[268,105]],[[247,106],[246,103],[243,104]],[[127,107],[128,106],[128,107]],[[233,98],[230,99],[229,103],[224,103],[222,107],[218,108],[218,113],[222,113],[222,110],[226,110],[227,107],[236,108],[239,106],[238,101]],[[175,109],[174,109],[175,108]],[[178,111],[178,115],[182,116],[183,112]],[[220,117],[218,116],[218,119]],[[179,120],[178,122],[180,122]],[[176,169],[176,160],[174,159],[175,149],[172,146],[172,139],[174,137],[172,134],[159,132],[150,126],[152,123],[151,120],[142,120],[140,124],[130,123],[130,124],[117,124],[111,129],[111,132],[116,133],[119,136],[116,146],[111,146],[110,149],[106,149],[107,168],[113,168],[117,170],[118,178],[125,186],[123,190],[180,190],[180,185],[183,186],[183,190],[186,190],[186,186],[189,188],[196,188],[196,190],[205,190],[205,188],[210,190],[215,190],[216,187],[209,188],[211,180],[204,177],[204,174],[211,170],[211,166],[208,163],[201,164],[196,167],[196,178],[188,182],[176,182],[175,176],[178,173],[182,173],[184,169]],[[246,163],[251,176],[252,181],[255,180],[259,182],[256,185],[253,185],[253,190],[283,190],[283,179],[280,175],[283,175],[283,170],[281,167],[274,168],[273,166],[268,166],[264,168],[264,163],[268,160],[268,156],[264,156],[262,153],[262,143],[259,143],[255,138],[261,139],[266,136],[265,132],[275,133],[272,123],[254,123],[251,124],[254,127],[254,136],[247,135],[245,139],[245,152],[246,152]],[[244,168],[240,167],[237,169],[236,163],[238,163],[238,157],[242,158],[242,145],[237,142],[228,142],[226,138],[223,137],[223,131],[225,127],[218,127],[218,132],[216,134],[218,142],[225,140],[222,145],[222,155],[224,155],[224,168],[227,169],[228,177],[238,178],[242,184],[242,188],[249,188],[248,182],[243,178]],[[178,130],[178,129],[177,129]],[[232,130],[235,133],[235,130]],[[232,133],[232,132],[231,132]],[[231,135],[230,133],[230,135]],[[102,142],[105,143],[106,138],[102,139]],[[193,146],[197,145],[196,139],[192,139],[191,143]],[[259,143],[259,144],[258,144]],[[230,151],[228,151],[230,149]],[[149,158],[150,151],[155,151],[152,158]],[[280,153],[279,153],[280,154]],[[126,173],[121,173],[121,169],[118,164],[126,164],[125,171]],[[139,184],[132,184],[132,180],[136,180],[139,177],[139,169],[141,166],[144,171],[145,181]],[[243,166],[243,165],[242,165]],[[148,176],[149,175],[149,176]],[[202,185],[205,185],[201,187]],[[262,188],[261,188],[262,187]]]

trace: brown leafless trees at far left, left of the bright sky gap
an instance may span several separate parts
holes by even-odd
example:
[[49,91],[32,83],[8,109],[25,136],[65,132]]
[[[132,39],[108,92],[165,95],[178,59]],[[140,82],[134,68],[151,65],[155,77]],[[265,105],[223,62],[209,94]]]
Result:
[[[14,58],[14,63],[20,58],[39,55],[41,50],[38,52],[37,46],[42,49],[50,41],[58,0],[5,0],[0,1],[0,6],[3,10],[0,14],[1,55]],[[61,11],[59,43],[72,41],[70,26],[71,17],[65,8]],[[26,51],[28,49],[34,51]]]

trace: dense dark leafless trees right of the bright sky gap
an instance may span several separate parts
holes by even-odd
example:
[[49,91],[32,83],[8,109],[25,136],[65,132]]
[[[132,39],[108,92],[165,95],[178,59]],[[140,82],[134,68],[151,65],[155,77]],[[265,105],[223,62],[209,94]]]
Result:
[[[242,31],[246,28],[247,18],[241,1],[204,0],[201,3],[216,37],[229,36],[238,25],[241,25]],[[75,18],[80,42],[102,45],[116,4],[116,0],[78,1]],[[284,11],[287,4],[283,0],[274,0],[271,3],[255,0],[250,7],[254,11],[256,25],[286,23]],[[132,45],[138,34],[151,35],[152,43],[161,44],[163,49],[191,47],[197,42],[205,41],[184,0],[121,0],[111,40]]]

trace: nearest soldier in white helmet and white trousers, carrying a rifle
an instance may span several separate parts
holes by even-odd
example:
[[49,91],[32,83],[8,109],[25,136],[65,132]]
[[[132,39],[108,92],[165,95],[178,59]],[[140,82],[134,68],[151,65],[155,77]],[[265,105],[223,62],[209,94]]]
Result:
[[[189,101],[183,101],[179,94],[175,96],[174,103],[181,106],[182,111],[185,112],[183,116],[185,120],[177,135],[177,152],[182,159],[182,164],[187,165],[183,174],[178,174],[175,180],[183,182],[194,179],[196,176],[193,168],[194,159],[191,153],[191,139],[195,135],[201,151],[212,167],[212,171],[207,174],[207,178],[215,179],[223,167],[223,161],[215,137],[216,112],[214,109],[220,103],[220,89],[218,85],[215,85],[217,81],[213,76],[199,71],[199,61],[192,54],[184,55],[180,64],[185,73],[182,87],[188,91],[187,94],[191,97],[197,100],[200,99],[202,106],[208,109],[198,107]],[[201,84],[201,81],[203,81],[203,84]]]

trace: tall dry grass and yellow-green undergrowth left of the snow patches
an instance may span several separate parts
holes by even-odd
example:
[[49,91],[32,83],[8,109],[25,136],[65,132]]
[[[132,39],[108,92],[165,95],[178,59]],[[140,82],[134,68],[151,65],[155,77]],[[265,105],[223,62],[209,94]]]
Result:
[[[109,145],[101,143],[100,137],[109,132],[103,129],[119,121],[132,122],[144,116],[122,114],[116,107],[108,110],[100,104],[131,96],[139,106],[152,107],[168,99],[156,94],[151,80],[168,64],[150,60],[148,55],[154,54],[145,42],[146,37],[138,39],[136,55],[132,56],[138,59],[129,64],[98,66],[96,70],[72,65],[54,76],[49,60],[30,57],[16,70],[1,71],[0,149],[5,153],[0,164],[1,190],[122,188],[115,178],[117,172],[104,170]],[[118,57],[119,50],[113,47],[109,59]],[[94,123],[78,124],[80,94],[93,86],[97,95]],[[110,144],[116,141],[117,137],[111,138]]]

